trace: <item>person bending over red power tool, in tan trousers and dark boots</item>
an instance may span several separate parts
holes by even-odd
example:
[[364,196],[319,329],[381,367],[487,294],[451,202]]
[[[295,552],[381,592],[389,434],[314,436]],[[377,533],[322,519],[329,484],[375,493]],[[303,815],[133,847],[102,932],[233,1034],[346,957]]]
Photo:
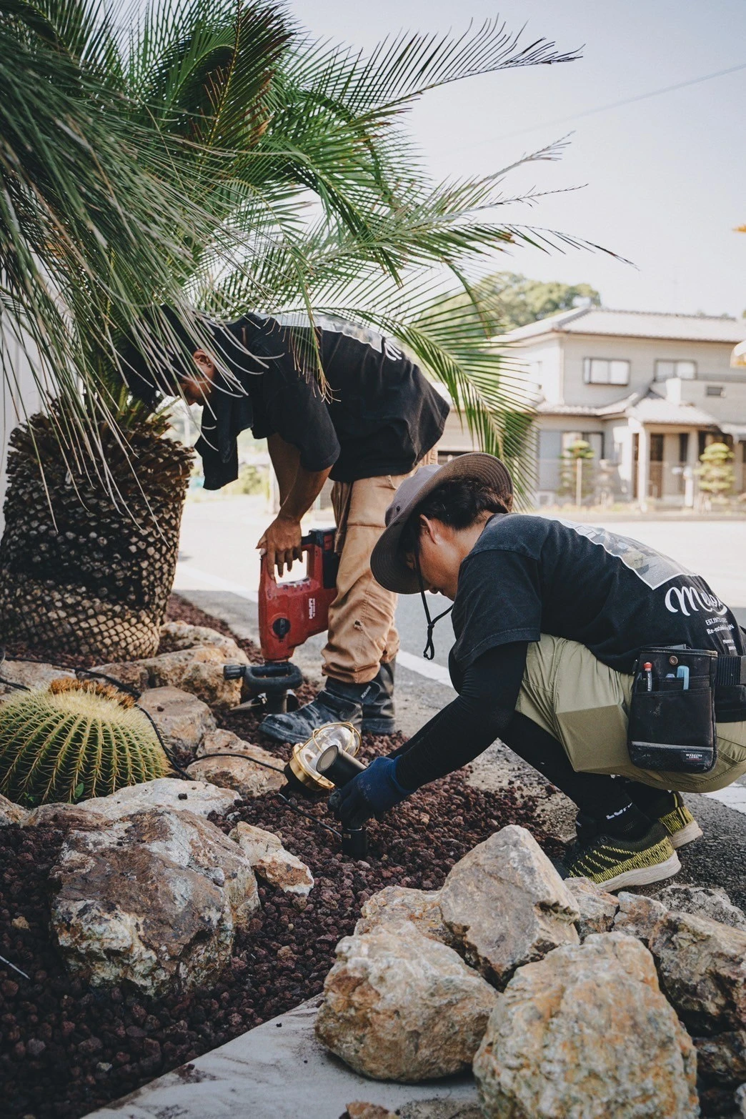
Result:
[[301,518],[327,479],[334,483],[340,563],[322,653],[325,687],[295,712],[268,715],[262,733],[302,742],[324,723],[347,721],[391,734],[396,595],[374,580],[370,553],[399,482],[418,462],[435,460],[447,403],[390,338],[340,319],[314,320],[327,394],[298,326],[258,314],[225,327],[202,319],[199,333],[214,341],[208,352],[174,316],[169,321],[179,348],[158,363],[130,345],[124,376],[151,405],[178,382],[188,403],[204,406],[197,451],[205,489],[238,477],[240,431],[266,438],[281,506],[257,547],[280,574],[301,556]]

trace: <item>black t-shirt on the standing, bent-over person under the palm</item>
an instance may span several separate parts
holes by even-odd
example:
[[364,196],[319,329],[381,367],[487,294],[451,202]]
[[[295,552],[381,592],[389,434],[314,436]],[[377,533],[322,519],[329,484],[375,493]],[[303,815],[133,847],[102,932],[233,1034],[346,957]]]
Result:
[[255,436],[280,434],[299,448],[302,467],[332,467],[334,481],[408,473],[441,438],[448,404],[393,339],[342,319],[314,322],[329,398],[290,319],[232,326],[237,333],[246,325],[246,347],[264,370],[244,379]]

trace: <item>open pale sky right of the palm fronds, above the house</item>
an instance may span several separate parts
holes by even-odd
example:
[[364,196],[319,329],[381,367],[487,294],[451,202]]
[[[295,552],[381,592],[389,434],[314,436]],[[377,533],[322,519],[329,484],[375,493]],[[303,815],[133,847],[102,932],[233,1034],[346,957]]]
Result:
[[[290,0],[309,30],[363,49],[400,29],[461,34],[499,15],[526,41],[580,60],[481,75],[428,93],[409,124],[438,179],[484,175],[573,132],[561,159],[520,168],[506,194],[558,191],[507,220],[559,229],[633,262],[516,248],[497,264],[587,282],[607,307],[680,313],[746,309],[746,68],[579,116],[746,64],[746,0]],[[565,117],[573,120],[565,121]],[[559,122],[561,123],[555,123]],[[577,189],[572,189],[577,188]],[[501,211],[502,213],[502,211]]]

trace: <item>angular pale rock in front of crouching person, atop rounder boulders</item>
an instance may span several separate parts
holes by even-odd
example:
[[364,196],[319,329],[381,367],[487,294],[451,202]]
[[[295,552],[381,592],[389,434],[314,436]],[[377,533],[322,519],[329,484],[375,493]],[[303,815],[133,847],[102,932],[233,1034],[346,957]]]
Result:
[[575,899],[531,834],[512,824],[451,868],[441,911],[466,962],[498,987],[522,963],[579,942]]

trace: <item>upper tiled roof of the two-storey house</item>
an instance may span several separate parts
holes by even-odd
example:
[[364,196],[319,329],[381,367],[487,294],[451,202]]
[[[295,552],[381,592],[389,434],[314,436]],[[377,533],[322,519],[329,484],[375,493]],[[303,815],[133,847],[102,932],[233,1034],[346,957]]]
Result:
[[746,338],[746,321],[707,314],[664,314],[659,311],[613,311],[607,307],[582,307],[559,311],[506,335],[497,335],[494,341],[527,341],[553,333],[665,338],[735,346]]

